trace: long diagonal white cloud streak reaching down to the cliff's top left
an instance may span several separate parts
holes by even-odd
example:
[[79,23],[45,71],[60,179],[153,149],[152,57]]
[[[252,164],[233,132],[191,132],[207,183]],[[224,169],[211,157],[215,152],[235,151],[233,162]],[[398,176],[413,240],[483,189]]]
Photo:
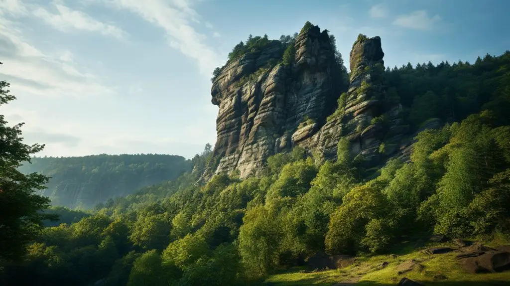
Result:
[[98,0],[138,14],[146,21],[165,30],[168,43],[198,62],[200,72],[208,76],[221,64],[222,57],[206,45],[206,36],[198,33],[191,22],[199,22],[197,13],[185,0]]

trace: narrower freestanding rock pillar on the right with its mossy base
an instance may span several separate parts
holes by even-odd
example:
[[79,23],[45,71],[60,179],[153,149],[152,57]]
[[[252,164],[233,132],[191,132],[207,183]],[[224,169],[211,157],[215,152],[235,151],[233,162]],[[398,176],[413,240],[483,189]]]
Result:
[[[362,38],[354,42],[349,55],[349,87],[338,110],[328,122],[303,144],[317,148],[325,159],[335,159],[341,137],[350,141],[351,155],[362,155],[366,167],[375,167],[400,149],[402,134],[409,126],[400,126],[401,110],[392,103],[384,87],[384,52],[381,39]],[[394,135],[398,135],[394,137]],[[384,142],[384,147],[381,144]]]

